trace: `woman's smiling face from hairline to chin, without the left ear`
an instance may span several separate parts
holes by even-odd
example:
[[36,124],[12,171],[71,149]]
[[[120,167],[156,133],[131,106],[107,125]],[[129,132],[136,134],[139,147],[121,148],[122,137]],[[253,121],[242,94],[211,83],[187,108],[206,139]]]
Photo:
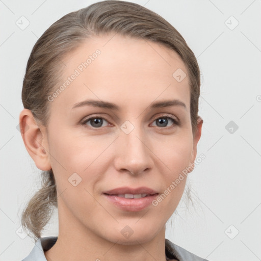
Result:
[[[187,69],[174,51],[119,35],[93,37],[63,63],[43,129],[57,184],[59,234],[149,241],[165,231],[186,175],[174,189],[171,184],[196,156]],[[156,106],[163,101],[176,102]],[[158,194],[122,195],[152,191]]]

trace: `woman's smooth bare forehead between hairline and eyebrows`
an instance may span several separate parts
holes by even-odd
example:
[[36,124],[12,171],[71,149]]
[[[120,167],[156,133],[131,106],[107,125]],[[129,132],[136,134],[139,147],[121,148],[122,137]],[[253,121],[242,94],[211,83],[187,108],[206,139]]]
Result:
[[[123,107],[127,100],[147,104],[161,98],[178,98],[189,108],[185,64],[175,51],[159,43],[117,34],[91,37],[63,61],[63,80],[57,87],[73,74],[76,76],[68,86],[64,85],[66,90],[56,98],[57,103],[72,108],[85,98],[95,98]],[[184,79],[180,81],[177,74]]]

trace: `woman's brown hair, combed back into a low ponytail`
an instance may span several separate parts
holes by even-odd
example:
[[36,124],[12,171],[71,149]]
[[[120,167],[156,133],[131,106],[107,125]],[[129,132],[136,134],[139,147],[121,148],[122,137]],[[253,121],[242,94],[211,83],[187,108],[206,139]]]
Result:
[[[197,131],[200,70],[192,50],[178,31],[163,17],[138,4],[101,1],[66,14],[37,40],[29,57],[22,87],[22,102],[34,118],[47,126],[48,95],[59,83],[62,59],[91,36],[110,33],[153,41],[176,51],[188,70],[190,114],[193,134]],[[35,240],[48,223],[51,208],[57,207],[57,191],[52,170],[42,172],[42,188],[23,210],[21,223]]]

